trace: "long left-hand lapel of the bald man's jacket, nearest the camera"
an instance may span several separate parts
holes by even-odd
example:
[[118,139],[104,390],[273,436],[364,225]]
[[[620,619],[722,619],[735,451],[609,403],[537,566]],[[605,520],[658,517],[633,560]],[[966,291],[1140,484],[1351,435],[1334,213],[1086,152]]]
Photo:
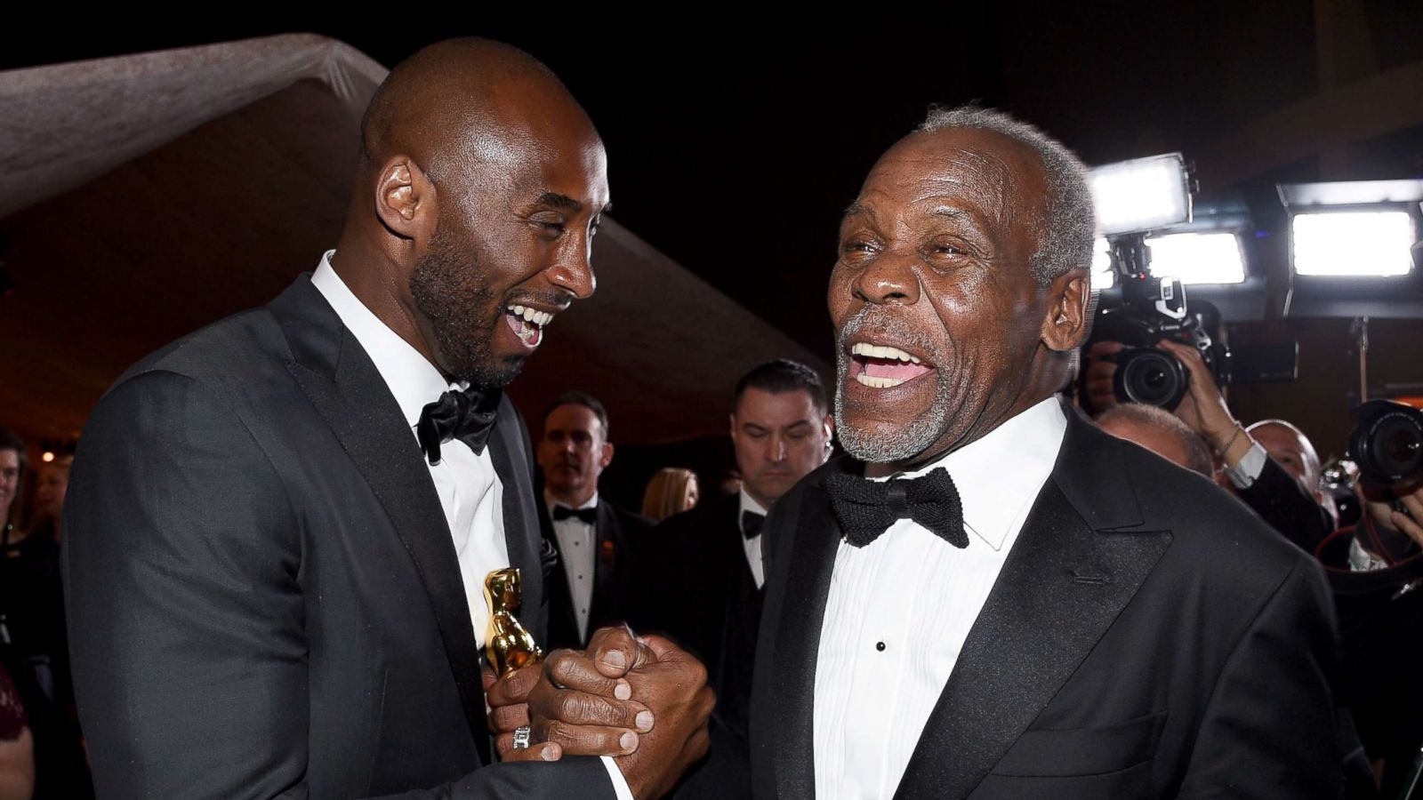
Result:
[[370,356],[307,278],[300,278],[269,309],[292,346],[295,360],[287,369],[366,478],[416,565],[470,735],[480,759],[490,763],[480,649],[460,561],[416,437]]

